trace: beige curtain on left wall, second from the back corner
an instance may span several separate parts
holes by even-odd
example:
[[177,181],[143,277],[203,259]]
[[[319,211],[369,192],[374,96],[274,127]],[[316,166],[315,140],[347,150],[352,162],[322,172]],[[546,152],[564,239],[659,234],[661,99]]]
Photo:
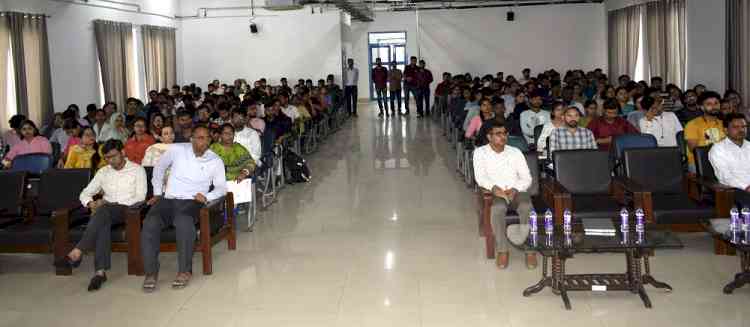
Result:
[[130,23],[94,21],[96,51],[106,101],[117,103],[120,110],[125,100],[135,95],[137,78],[133,53],[133,25]]

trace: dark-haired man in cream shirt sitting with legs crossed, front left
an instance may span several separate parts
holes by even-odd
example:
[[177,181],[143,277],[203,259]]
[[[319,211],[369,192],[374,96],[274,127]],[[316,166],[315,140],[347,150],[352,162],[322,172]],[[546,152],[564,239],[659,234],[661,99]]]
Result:
[[[103,148],[108,165],[102,167],[88,186],[81,191],[81,204],[92,211],[86,231],[67,256],[55,260],[55,266],[75,268],[81,263],[84,251],[94,251],[94,269],[88,290],[96,291],[107,281],[106,271],[112,265],[112,225],[125,222],[128,206],[146,199],[146,171],[130,162],[122,151],[120,140],[109,140]],[[104,193],[99,200],[94,196]]]

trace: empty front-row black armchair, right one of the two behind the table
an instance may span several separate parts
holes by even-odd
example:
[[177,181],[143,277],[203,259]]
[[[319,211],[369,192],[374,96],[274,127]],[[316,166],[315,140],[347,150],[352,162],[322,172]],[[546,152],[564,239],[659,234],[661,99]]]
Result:
[[688,196],[679,149],[630,149],[624,160],[625,176],[643,191],[636,206],[649,221],[676,231],[702,231],[701,219],[717,217],[713,205]]

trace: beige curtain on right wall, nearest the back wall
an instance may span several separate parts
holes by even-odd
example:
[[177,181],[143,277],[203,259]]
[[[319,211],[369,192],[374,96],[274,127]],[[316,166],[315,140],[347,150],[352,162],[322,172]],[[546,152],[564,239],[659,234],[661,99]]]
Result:
[[632,77],[635,74],[640,21],[640,6],[609,12],[609,78],[612,83],[616,83],[620,75]]

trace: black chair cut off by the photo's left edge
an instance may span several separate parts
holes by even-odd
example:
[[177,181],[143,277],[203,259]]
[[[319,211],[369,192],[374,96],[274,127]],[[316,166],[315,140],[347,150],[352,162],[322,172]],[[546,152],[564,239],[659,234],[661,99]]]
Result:
[[0,171],[0,228],[23,220],[24,190],[26,173]]

